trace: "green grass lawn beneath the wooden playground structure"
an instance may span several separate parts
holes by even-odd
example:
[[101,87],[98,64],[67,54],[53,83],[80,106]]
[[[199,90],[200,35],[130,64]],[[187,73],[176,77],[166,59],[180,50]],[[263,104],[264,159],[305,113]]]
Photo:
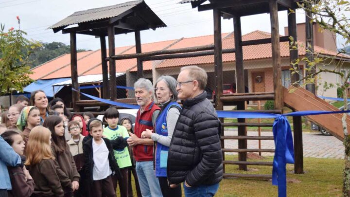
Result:
[[[226,160],[237,160],[237,156],[225,155]],[[266,157],[259,161],[272,161]],[[256,161],[256,160],[255,160]],[[304,158],[305,174],[294,174],[294,165],[287,164],[287,196],[289,197],[337,197],[342,194],[343,160]],[[227,173],[272,174],[272,166],[248,166],[247,172],[238,165],[226,165]],[[132,176],[132,179],[134,177]],[[137,197],[135,182],[133,195]],[[183,188],[182,188],[183,189]],[[117,188],[117,196],[120,196]],[[271,180],[223,179],[215,197],[277,197],[277,186]],[[184,192],[182,191],[184,197]]]

